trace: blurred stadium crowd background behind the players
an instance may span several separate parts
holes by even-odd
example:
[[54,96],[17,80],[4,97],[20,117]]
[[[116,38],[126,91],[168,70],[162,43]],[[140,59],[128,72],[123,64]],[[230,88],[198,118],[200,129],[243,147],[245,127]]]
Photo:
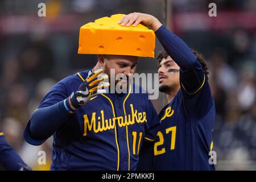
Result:
[[[46,3],[46,17],[38,4]],[[217,17],[210,17],[209,3]],[[95,55],[78,55],[79,29],[112,14],[156,16],[203,53],[216,104],[213,150],[217,170],[256,170],[256,1],[255,0],[1,0],[0,130],[34,170],[51,165],[52,139],[31,146],[23,130],[49,88],[65,76],[93,67]],[[156,42],[155,54],[162,47]],[[138,73],[156,73],[154,59],[141,58]],[[160,94],[157,111],[167,104]],[[38,151],[46,165],[38,165]],[[0,167],[1,168],[1,167]]]

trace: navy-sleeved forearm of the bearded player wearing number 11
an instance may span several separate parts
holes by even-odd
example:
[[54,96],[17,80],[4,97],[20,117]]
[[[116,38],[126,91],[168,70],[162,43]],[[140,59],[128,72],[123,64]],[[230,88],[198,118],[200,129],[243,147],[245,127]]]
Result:
[[34,139],[51,137],[67,121],[70,115],[65,109],[64,101],[52,106],[39,108],[30,118],[31,137]]

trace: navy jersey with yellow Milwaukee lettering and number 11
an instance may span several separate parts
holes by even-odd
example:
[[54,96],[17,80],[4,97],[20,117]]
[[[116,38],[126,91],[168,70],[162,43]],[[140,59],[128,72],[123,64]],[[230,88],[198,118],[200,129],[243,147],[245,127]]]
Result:
[[[58,82],[39,108],[63,101],[76,92],[88,72]],[[24,131],[25,139],[31,144],[43,143],[46,139],[30,136],[30,122]],[[55,131],[51,169],[135,170],[139,149],[145,140],[154,141],[158,125],[158,115],[147,94],[130,90],[126,94],[100,94],[70,114]]]

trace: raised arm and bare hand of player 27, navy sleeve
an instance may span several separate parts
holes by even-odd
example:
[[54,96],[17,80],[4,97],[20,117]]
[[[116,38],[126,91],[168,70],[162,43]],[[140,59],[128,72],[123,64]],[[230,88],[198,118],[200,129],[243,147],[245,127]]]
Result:
[[119,24],[122,26],[137,26],[142,23],[155,31],[160,43],[166,49],[168,55],[179,65],[181,84],[183,89],[191,94],[195,92],[204,82],[204,72],[201,64],[191,49],[177,35],[172,33],[152,15],[143,13],[131,13],[124,16]]

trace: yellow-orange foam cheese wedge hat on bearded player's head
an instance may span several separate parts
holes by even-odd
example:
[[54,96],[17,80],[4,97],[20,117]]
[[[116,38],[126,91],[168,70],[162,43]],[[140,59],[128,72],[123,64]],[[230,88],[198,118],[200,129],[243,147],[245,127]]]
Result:
[[123,16],[103,17],[82,26],[78,53],[154,57],[154,31],[142,24],[121,26],[118,22]]

